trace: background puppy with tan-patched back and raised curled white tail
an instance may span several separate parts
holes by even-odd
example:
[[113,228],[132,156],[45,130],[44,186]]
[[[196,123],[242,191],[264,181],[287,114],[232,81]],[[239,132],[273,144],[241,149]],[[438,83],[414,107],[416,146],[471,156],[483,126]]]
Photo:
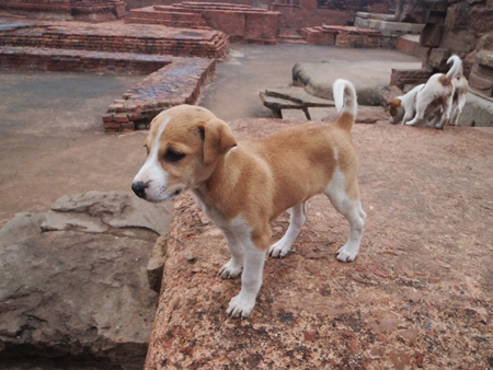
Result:
[[452,80],[462,74],[462,61],[456,55],[448,58],[447,63],[452,63],[447,74],[435,73],[424,88],[416,94],[416,115],[405,125],[413,126],[426,115],[442,111],[440,119],[435,126],[443,129],[450,119],[455,86]]

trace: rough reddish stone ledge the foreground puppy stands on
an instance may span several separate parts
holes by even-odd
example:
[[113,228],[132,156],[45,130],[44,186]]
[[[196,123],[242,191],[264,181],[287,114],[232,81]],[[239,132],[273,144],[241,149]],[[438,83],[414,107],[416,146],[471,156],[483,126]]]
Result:
[[[244,138],[298,124],[231,126]],[[226,315],[240,281],[217,276],[223,238],[182,196],[146,369],[491,366],[492,132],[356,125],[353,137],[368,213],[358,258],[336,262],[347,224],[313,198],[294,252],[266,262],[248,320]],[[288,218],[273,223],[273,240]]]

